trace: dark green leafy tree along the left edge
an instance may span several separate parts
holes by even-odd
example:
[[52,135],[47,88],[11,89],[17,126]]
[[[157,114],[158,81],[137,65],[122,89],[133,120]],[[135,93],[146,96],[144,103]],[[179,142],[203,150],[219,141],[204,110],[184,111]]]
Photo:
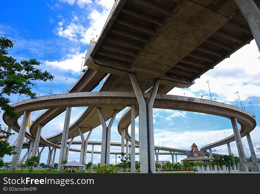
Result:
[[[14,111],[15,108],[10,105],[9,99],[11,94],[26,95],[27,97],[35,98],[36,93],[32,92],[32,87],[35,86],[33,81],[52,80],[53,76],[45,71],[35,68],[40,62],[36,59],[22,60],[17,62],[12,56],[9,56],[8,49],[14,46],[13,41],[6,37],[0,38],[0,109],[4,110],[11,118],[19,118],[19,115]],[[12,133],[4,132],[0,125],[0,139],[7,138]],[[15,146],[10,146],[6,141],[0,142],[0,157],[4,155],[17,154],[14,152]]]

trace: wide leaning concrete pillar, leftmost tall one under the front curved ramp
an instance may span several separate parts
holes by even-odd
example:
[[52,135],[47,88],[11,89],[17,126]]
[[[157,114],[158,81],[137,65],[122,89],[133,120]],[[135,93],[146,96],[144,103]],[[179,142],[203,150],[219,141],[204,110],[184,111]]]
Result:
[[22,123],[20,126],[19,135],[18,135],[18,139],[17,139],[17,145],[15,148],[15,152],[17,152],[17,154],[13,155],[12,164],[10,166],[10,170],[12,170],[12,171],[16,170],[17,165],[19,163],[19,158],[20,158],[21,151],[22,151],[22,145],[23,145],[23,140],[25,137],[25,131],[26,131],[27,122],[29,119],[29,114],[30,114],[30,112],[25,110],[23,117],[22,117]]

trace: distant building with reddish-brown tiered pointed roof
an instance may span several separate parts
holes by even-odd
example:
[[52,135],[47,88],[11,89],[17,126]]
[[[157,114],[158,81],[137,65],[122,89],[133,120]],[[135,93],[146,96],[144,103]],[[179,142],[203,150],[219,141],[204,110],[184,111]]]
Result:
[[198,146],[193,143],[191,146],[191,151],[186,151],[186,158],[184,158],[181,161],[194,161],[194,162],[205,162],[207,163],[210,158],[207,158],[204,156],[204,153],[202,150],[198,150]]

